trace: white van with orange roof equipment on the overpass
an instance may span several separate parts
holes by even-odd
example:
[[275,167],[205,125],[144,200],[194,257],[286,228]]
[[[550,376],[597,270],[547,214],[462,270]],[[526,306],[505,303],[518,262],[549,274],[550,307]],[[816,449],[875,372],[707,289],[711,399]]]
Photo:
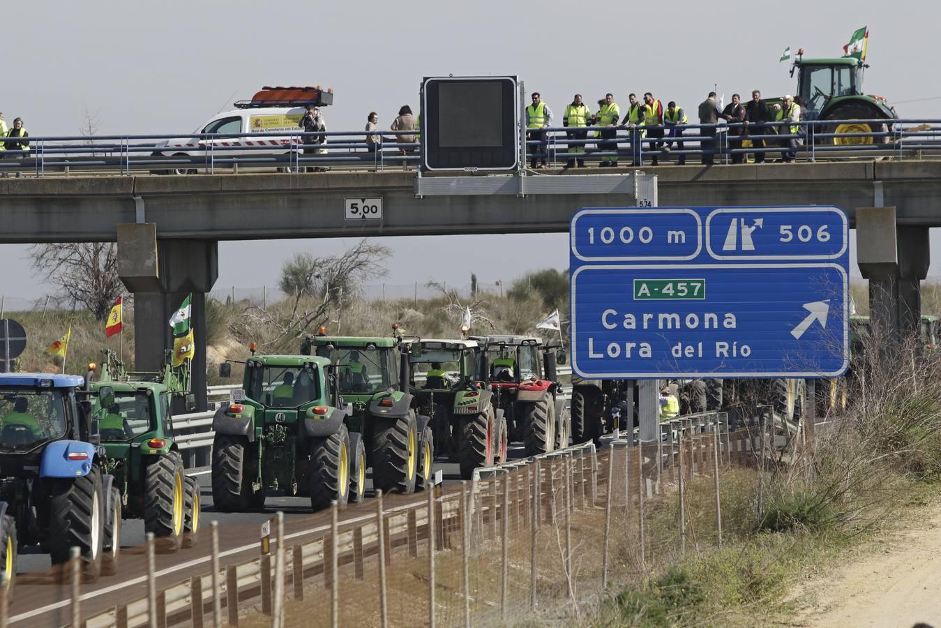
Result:
[[[159,142],[152,156],[199,157],[215,163],[215,168],[228,168],[231,164],[218,160],[232,157],[264,158],[271,155],[290,157],[301,144],[298,127],[307,105],[333,104],[333,90],[315,88],[269,88],[255,93],[251,100],[235,103],[235,109],[218,113],[202,124],[193,135],[213,134],[219,137],[177,137]],[[283,136],[270,134],[283,133]],[[239,134],[259,134],[259,137],[232,137]],[[201,166],[199,169],[203,169]],[[279,167],[281,172],[294,171],[290,162]],[[160,174],[195,174],[196,168],[183,165],[168,170],[154,170]]]

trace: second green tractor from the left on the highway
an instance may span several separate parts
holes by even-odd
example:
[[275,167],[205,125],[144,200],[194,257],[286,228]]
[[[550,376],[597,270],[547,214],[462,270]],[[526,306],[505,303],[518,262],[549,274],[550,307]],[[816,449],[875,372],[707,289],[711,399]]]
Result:
[[[231,363],[219,377],[231,377]],[[218,510],[262,510],[269,491],[309,496],[314,511],[363,500],[363,443],[347,430],[352,405],[338,384],[326,358],[252,352],[242,389],[213,417]]]

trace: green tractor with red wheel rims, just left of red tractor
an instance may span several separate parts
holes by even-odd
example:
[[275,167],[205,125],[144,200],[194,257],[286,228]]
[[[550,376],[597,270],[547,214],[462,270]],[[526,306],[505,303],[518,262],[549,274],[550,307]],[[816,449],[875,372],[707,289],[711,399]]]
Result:
[[506,461],[508,430],[504,411],[481,372],[483,350],[475,340],[421,340],[411,345],[408,391],[420,416],[431,418],[435,450],[460,464],[461,477]]

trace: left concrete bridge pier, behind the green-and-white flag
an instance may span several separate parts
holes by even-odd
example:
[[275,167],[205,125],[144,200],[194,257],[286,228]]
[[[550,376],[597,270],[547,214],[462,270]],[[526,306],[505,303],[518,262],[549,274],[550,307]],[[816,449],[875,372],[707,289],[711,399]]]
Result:
[[[192,294],[190,321],[196,341],[190,387],[196,410],[206,411],[206,293],[219,274],[215,240],[157,240],[153,223],[118,226],[118,271],[134,293],[135,368],[158,370],[173,347],[170,316]],[[174,413],[183,412],[183,404]]]

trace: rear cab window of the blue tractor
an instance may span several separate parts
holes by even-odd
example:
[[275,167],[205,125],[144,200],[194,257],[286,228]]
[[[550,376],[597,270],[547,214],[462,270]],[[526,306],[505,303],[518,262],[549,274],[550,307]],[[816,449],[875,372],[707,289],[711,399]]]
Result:
[[62,392],[55,389],[0,388],[0,451],[26,451],[65,436],[68,428]]

